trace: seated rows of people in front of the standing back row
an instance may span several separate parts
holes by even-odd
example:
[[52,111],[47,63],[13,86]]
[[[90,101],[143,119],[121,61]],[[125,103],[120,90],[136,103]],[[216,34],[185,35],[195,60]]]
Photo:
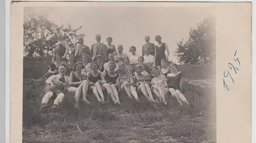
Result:
[[[118,65],[114,62],[113,54],[109,54],[109,62],[104,64],[102,55],[97,55],[92,63],[88,62],[89,55],[82,55],[82,61],[71,66],[72,61],[65,64],[61,62],[58,54],[54,56],[55,61],[49,69],[54,75],[46,81],[46,94],[42,99],[41,110],[49,109],[48,102],[54,93],[57,98],[51,109],[58,109],[65,91],[75,95],[76,108],[79,108],[80,97],[82,102],[90,103],[87,100],[89,93],[92,93],[98,102],[105,103],[105,99],[108,101],[111,99],[115,104],[120,104],[118,94],[122,91],[138,102],[140,102],[138,92],[141,92],[151,102],[156,102],[153,98],[155,95],[156,99],[164,104],[167,104],[165,95],[170,92],[180,105],[183,105],[181,101],[189,104],[180,92],[182,74],[174,63],[170,64],[167,69],[167,71],[171,70],[171,73],[164,76],[151,62],[144,64],[143,57],[138,58],[139,64],[137,65],[131,65],[128,57],[125,57],[123,63]],[[165,63],[166,60],[161,60],[163,66]],[[66,76],[66,69],[70,70],[70,76]],[[104,94],[105,91],[106,94]]]

